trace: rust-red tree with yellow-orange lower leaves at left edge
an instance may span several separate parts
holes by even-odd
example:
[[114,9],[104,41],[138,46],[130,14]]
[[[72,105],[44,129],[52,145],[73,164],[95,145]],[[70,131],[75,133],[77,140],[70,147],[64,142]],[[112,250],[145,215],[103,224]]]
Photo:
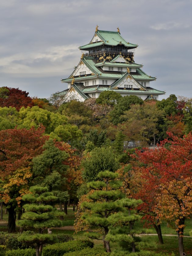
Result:
[[21,196],[28,193],[31,160],[41,154],[42,145],[48,139],[43,133],[44,127],[0,131],[0,171],[4,188],[1,199],[9,212],[8,232],[15,231],[16,206],[20,206]]

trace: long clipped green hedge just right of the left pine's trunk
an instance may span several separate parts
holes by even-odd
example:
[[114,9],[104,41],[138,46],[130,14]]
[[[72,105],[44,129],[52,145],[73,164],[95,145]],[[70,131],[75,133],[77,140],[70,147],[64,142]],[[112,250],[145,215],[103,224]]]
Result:
[[62,256],[64,253],[76,250],[82,250],[86,247],[93,247],[94,243],[90,240],[76,240],[66,243],[55,243],[43,248],[43,256]]

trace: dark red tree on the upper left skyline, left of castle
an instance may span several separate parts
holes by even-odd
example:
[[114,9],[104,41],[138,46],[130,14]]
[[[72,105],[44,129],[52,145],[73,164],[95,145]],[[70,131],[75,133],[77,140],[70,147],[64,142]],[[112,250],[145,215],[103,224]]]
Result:
[[8,88],[8,87],[2,87],[2,88],[0,92],[1,107],[11,106],[19,110],[21,107],[26,108],[27,106],[29,107],[34,106],[32,98],[28,96],[29,94],[28,92],[21,91],[19,90],[19,88]]

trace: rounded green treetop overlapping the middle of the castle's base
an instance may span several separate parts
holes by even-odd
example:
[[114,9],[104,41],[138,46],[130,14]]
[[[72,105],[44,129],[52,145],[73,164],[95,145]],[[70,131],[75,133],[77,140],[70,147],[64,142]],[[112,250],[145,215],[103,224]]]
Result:
[[102,91],[99,97],[96,99],[96,103],[115,106],[121,98],[122,96],[115,91]]

